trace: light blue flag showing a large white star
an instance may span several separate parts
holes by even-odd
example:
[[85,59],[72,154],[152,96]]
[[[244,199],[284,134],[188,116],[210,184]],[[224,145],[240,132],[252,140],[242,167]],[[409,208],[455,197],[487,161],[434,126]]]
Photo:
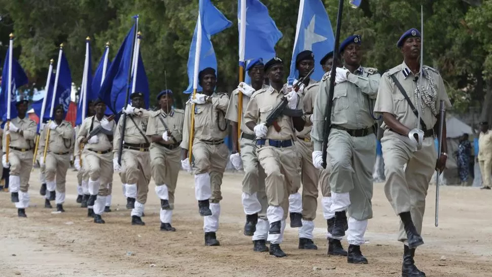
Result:
[[299,72],[296,70],[296,57],[298,53],[304,50],[310,50],[314,54],[314,72],[311,75],[311,79],[321,80],[324,72],[320,60],[328,52],[333,51],[334,43],[333,28],[323,1],[301,0],[291,69],[287,82],[292,85],[294,80],[298,79]]

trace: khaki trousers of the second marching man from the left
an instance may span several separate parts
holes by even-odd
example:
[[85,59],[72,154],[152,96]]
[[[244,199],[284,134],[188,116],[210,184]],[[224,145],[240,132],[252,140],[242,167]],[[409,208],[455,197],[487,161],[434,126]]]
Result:
[[52,152],[46,154],[46,182],[56,181],[56,191],[58,192],[65,192],[66,171],[69,165],[70,154],[58,155]]

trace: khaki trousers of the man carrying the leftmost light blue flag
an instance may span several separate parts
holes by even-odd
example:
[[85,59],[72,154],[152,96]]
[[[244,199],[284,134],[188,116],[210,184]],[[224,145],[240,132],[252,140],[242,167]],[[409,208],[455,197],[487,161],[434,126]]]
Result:
[[212,197],[210,202],[219,203],[222,200],[221,185],[224,170],[227,166],[229,149],[225,144],[211,145],[200,140],[195,140],[193,143],[193,156],[195,158],[195,166],[193,173],[195,175],[208,173],[210,174],[210,189],[212,189]]

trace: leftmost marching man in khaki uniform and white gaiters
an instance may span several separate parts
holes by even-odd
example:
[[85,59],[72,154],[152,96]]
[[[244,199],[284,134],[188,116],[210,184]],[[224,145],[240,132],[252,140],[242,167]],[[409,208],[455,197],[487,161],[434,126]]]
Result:
[[[17,207],[19,217],[27,217],[25,209],[29,206],[29,177],[32,169],[32,148],[36,136],[36,122],[27,117],[27,100],[16,103],[17,117],[5,124],[3,143],[4,167],[10,166],[9,190],[12,202]],[[7,144],[10,135],[10,144]],[[9,147],[7,163],[6,148]]]

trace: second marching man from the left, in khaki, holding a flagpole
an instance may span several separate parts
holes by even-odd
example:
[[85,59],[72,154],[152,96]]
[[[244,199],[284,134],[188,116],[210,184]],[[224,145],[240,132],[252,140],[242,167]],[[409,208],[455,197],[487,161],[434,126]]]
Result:
[[[50,121],[41,133],[39,151],[44,155],[46,138],[50,130],[46,159],[42,156],[40,164],[45,167],[47,193],[56,195],[56,211],[65,212],[63,203],[65,202],[66,170],[70,165],[70,150],[74,144],[74,127],[64,120],[63,105],[58,105],[54,111],[54,120]],[[45,202],[45,205],[51,206],[49,198],[45,199]]]

